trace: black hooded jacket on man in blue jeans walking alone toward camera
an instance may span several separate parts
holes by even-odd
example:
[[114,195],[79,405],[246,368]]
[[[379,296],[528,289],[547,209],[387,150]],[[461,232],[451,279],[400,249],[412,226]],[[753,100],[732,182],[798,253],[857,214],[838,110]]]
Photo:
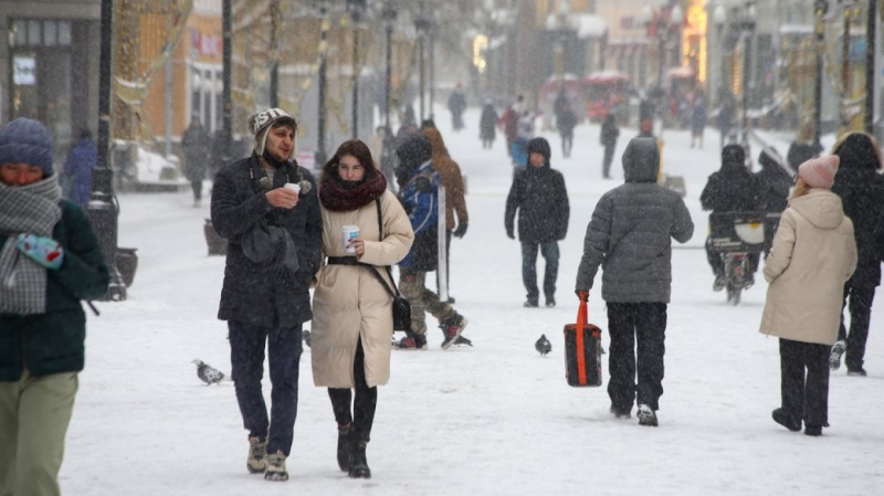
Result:
[[506,197],[504,225],[507,235],[514,236],[514,221],[518,211],[519,241],[544,243],[561,241],[568,234],[568,192],[565,177],[549,167],[549,144],[544,138],[528,143],[528,155],[537,152],[546,158],[541,167],[528,165],[516,171]]

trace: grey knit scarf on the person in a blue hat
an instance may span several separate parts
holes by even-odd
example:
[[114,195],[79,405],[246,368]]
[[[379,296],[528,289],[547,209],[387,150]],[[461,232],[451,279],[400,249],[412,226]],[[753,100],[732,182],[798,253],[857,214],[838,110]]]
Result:
[[15,247],[15,236],[51,236],[62,218],[61,198],[54,173],[27,186],[0,182],[0,232],[8,236],[0,250],[0,314],[46,312],[46,270]]

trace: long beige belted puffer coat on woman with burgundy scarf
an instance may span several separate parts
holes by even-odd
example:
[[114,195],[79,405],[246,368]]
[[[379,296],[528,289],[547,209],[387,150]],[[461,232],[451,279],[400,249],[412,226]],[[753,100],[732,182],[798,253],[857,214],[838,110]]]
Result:
[[[383,266],[402,260],[414,241],[411,222],[396,196],[386,191],[381,197],[382,241],[378,241],[378,209],[373,201],[348,212],[333,212],[325,207],[322,212],[324,255],[355,256],[344,251],[340,228],[358,225],[359,238],[366,240],[360,262],[378,266],[389,284]],[[390,378],[392,297],[370,267],[326,265],[317,274],[317,281],[311,324],[314,384],[354,388],[352,365],[360,337],[368,387],[386,384]]]

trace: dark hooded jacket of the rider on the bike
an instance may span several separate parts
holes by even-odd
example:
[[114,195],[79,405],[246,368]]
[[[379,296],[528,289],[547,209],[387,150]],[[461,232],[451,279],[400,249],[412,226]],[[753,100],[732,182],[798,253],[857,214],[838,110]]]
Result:
[[727,145],[722,149],[722,168],[709,176],[699,194],[703,210],[738,212],[758,208],[755,178],[745,161],[741,146]]

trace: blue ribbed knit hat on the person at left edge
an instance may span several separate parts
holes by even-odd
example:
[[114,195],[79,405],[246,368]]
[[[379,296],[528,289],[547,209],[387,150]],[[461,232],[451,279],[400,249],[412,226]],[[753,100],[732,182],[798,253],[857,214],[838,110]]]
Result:
[[20,117],[0,130],[0,165],[29,163],[52,176],[52,137],[36,120]]

